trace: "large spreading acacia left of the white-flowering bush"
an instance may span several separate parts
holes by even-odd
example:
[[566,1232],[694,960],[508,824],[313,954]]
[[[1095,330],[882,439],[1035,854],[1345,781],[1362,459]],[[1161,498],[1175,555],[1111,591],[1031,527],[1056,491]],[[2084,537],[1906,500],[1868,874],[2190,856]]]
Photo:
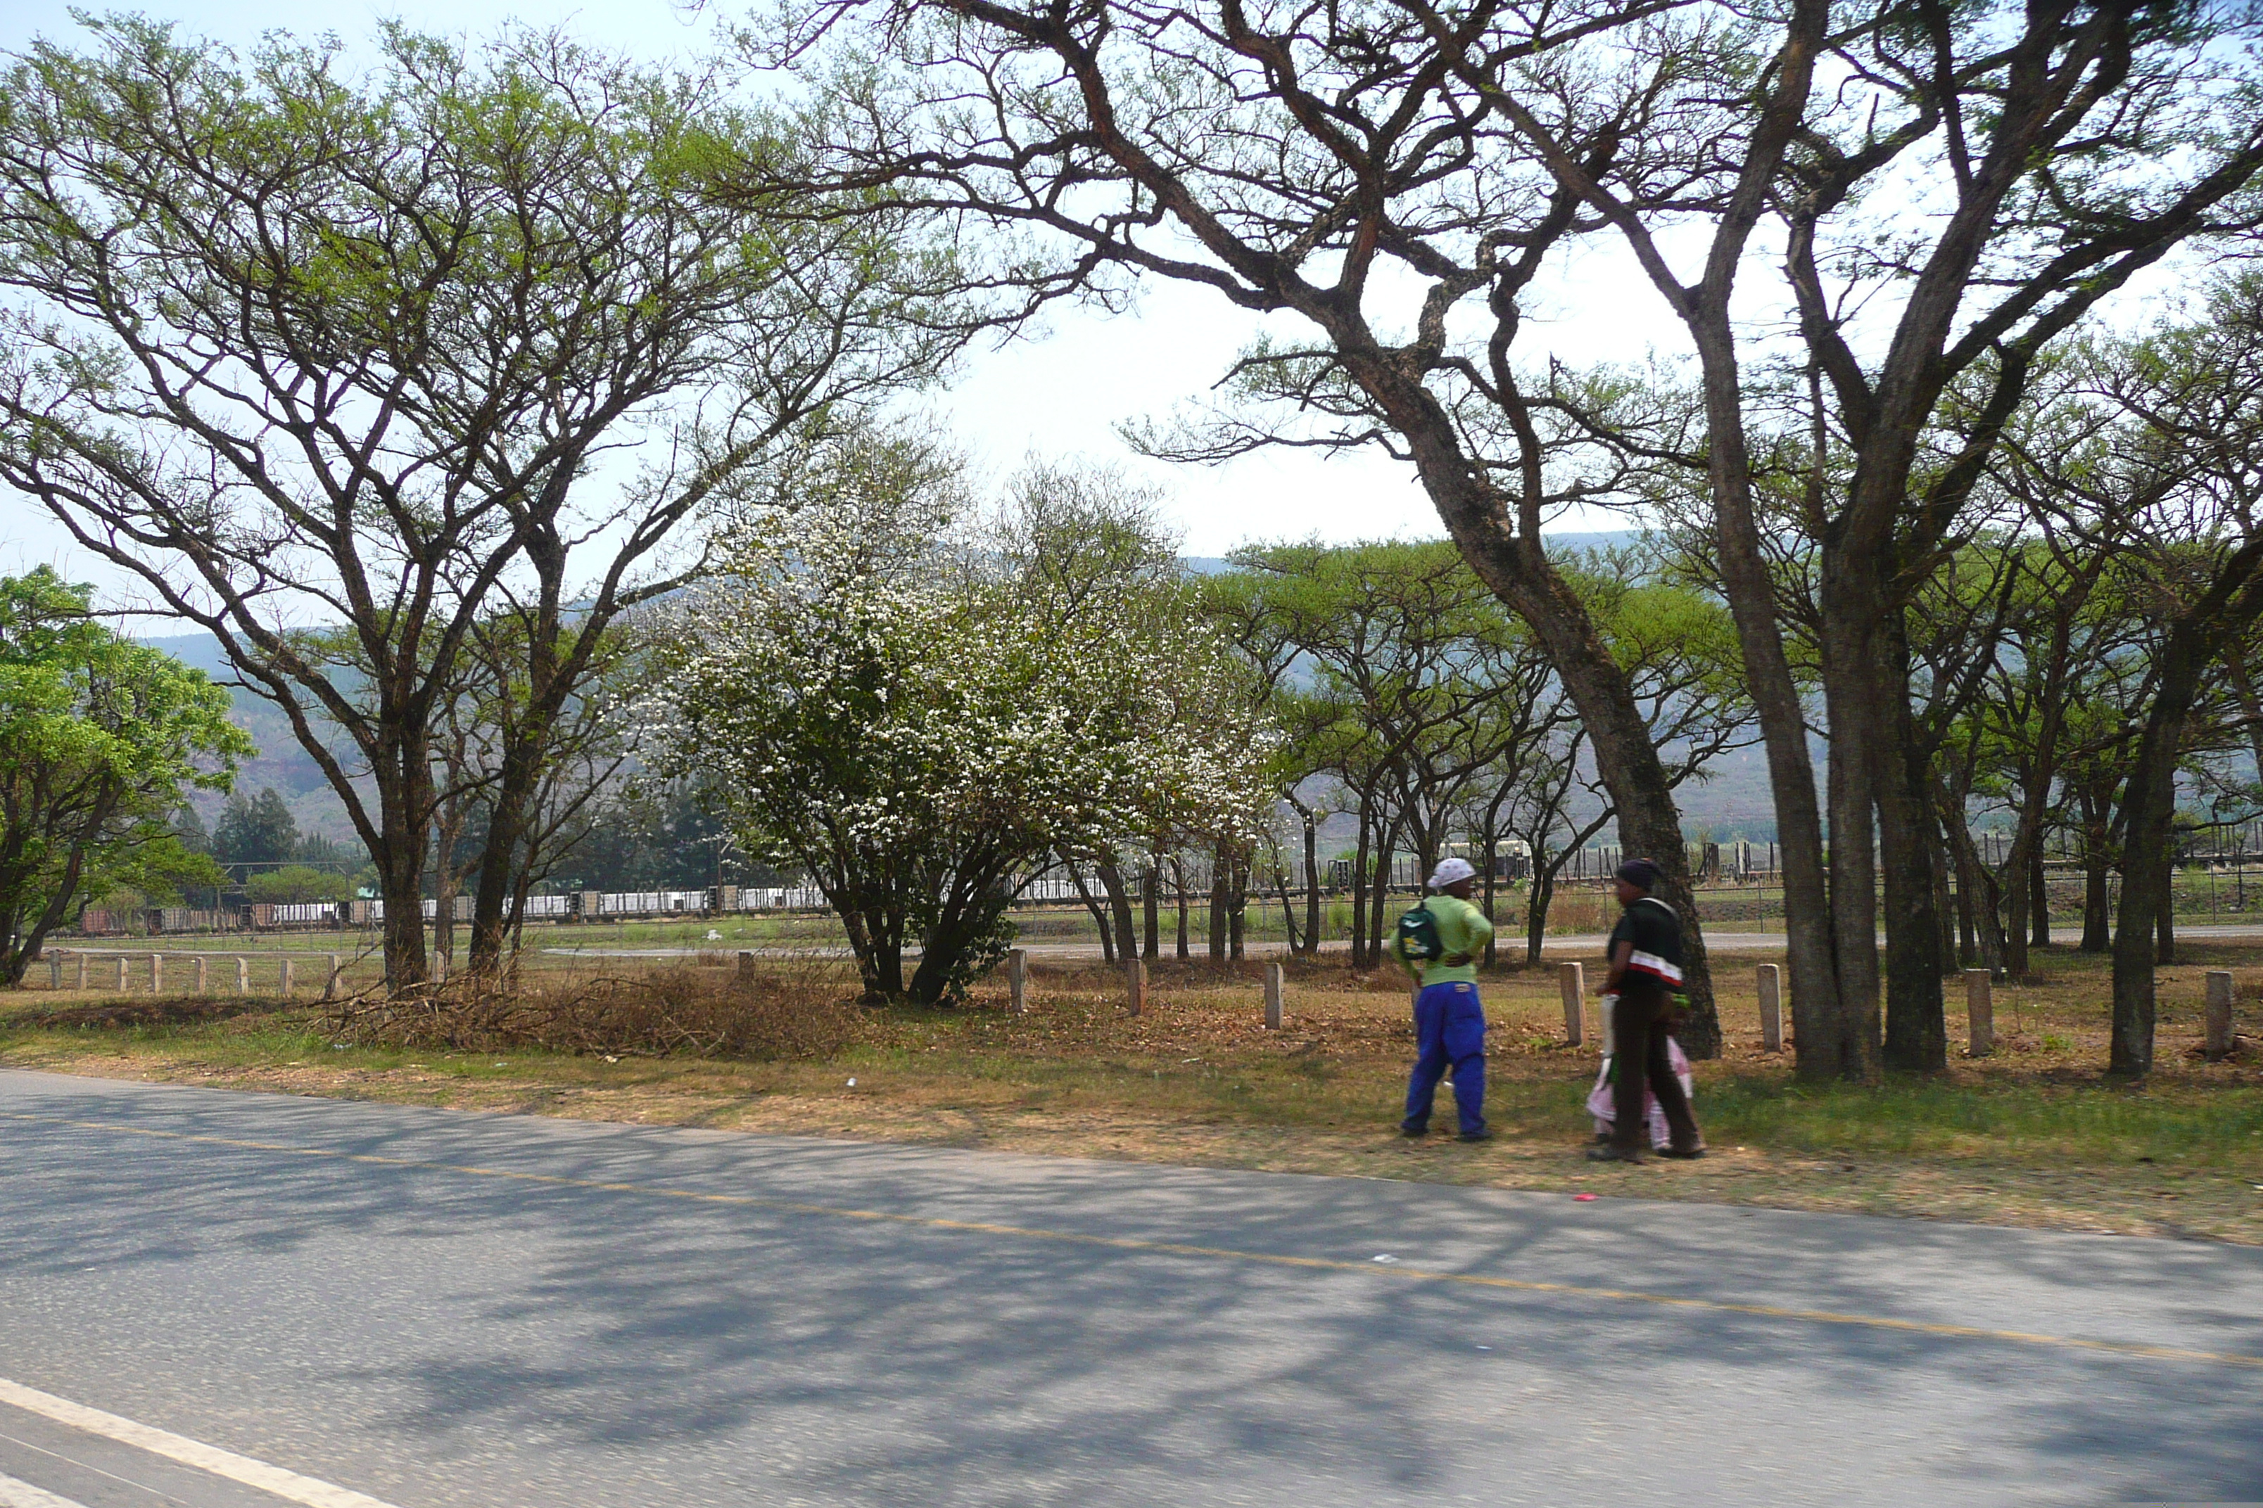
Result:
[[[283,710],[371,855],[396,988],[425,977],[432,730],[475,626],[520,617],[493,961],[604,629],[683,581],[677,525],[781,432],[932,371],[935,265],[901,217],[717,206],[717,161],[783,145],[702,77],[543,36],[387,29],[358,77],[335,43],[238,66],[91,29],[0,90],[0,479]],[[625,477],[631,436],[661,459]]]

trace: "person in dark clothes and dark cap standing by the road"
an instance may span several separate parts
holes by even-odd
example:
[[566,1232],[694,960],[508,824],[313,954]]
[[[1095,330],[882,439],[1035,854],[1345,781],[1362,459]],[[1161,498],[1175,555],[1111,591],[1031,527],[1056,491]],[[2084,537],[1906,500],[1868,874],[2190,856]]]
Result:
[[1659,1097],[1666,1126],[1672,1133],[1666,1158],[1702,1158],[1704,1137],[1690,1112],[1688,1094],[1675,1076],[1666,1038],[1672,1031],[1672,997],[1681,993],[1681,918],[1654,898],[1659,866],[1650,859],[1627,859],[1618,866],[1618,904],[1623,916],[1611,931],[1611,972],[1604,995],[1618,995],[1611,1011],[1611,1056],[1618,1078],[1611,1085],[1611,1142],[1589,1149],[1595,1162],[1641,1162],[1647,1144],[1643,1085]]

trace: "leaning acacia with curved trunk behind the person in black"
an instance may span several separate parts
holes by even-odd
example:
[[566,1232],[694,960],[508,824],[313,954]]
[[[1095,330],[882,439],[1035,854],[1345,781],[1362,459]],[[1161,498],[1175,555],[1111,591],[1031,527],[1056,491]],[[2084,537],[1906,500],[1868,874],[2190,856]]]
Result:
[[[1156,448],[1374,443],[1408,461],[1546,647],[1623,841],[1688,913],[1666,766],[1541,543],[1561,506],[1625,495],[1647,461],[1589,448],[1577,405],[1514,359],[1528,294],[1593,213],[1505,149],[1487,88],[1457,72],[1478,43],[1534,59],[1654,9],[1485,5],[1432,36],[1389,2],[835,0],[758,38],[763,61],[806,70],[810,151],[747,183],[810,192],[828,222],[919,210],[989,228],[982,278],[1030,298],[1116,298],[1145,276],[1294,314],[1308,339],[1242,364],[1258,409]],[[1711,1011],[1693,952],[1690,997]]]

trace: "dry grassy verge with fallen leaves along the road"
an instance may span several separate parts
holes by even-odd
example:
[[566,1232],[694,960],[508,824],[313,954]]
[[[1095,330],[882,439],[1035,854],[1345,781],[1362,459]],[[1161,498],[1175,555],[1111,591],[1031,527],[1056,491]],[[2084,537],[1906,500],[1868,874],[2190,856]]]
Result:
[[[1487,1146],[1394,1135],[1410,1051],[1405,988],[1340,965],[1292,968],[1279,1033],[1263,1029],[1256,965],[1213,972],[1165,961],[1150,974],[1141,1017],[1125,1013],[1120,977],[1098,968],[1039,965],[1034,1006],[1014,1015],[1003,986],[960,1011],[853,1013],[846,970],[797,981],[785,965],[765,965],[776,1004],[815,1022],[840,1013],[849,1031],[745,1060],[706,1047],[711,1026],[661,1056],[665,1031],[683,1024],[674,1015],[677,1026],[659,1033],[640,1024],[654,1056],[631,1058],[584,1042],[636,1033],[520,1033],[511,1040],[523,1047],[502,1051],[489,1038],[339,1045],[315,1008],[213,1017],[186,1002],[181,1015],[154,1020],[100,1015],[111,1006],[88,1002],[95,1013],[43,1020],[9,1020],[0,1006],[0,1060],[466,1110],[2263,1243],[2263,950],[2188,952],[2191,965],[2161,974],[2161,1072],[2136,1087],[2100,1074],[2098,959],[2050,952],[2041,983],[1998,988],[1998,1056],[1957,1056],[1944,1076],[1876,1090],[1795,1085],[1790,1065],[1758,1047],[1758,959],[1718,959],[1729,1042],[1722,1060],[1697,1065],[1697,1110],[1715,1155],[1641,1169],[1580,1155],[1595,1056],[1593,1045],[1561,1042],[1550,970],[1485,983],[1489,1117],[1500,1133]],[[2197,1056],[2206,968],[2234,968],[2240,981],[2243,1049],[2229,1063]],[[622,990],[604,1006],[604,1031],[659,1020],[643,1015],[652,1011],[681,1013],[663,1004],[659,981],[670,972],[702,974],[699,999],[724,983],[688,968],[634,977],[645,1004],[625,1011]],[[561,990],[593,1002],[595,983]],[[1962,1054],[1960,999],[1953,1017]]]

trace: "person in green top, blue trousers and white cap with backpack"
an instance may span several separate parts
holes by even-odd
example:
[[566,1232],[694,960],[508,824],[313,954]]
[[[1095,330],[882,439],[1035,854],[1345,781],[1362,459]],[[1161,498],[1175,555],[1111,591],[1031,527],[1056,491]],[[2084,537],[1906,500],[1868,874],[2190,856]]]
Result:
[[1485,1142],[1485,1004],[1478,999],[1478,954],[1494,922],[1469,904],[1478,870],[1469,859],[1442,859],[1430,875],[1432,895],[1399,920],[1392,943],[1401,968],[1421,986],[1414,997],[1414,1076],[1399,1130],[1430,1135],[1437,1081],[1453,1067],[1453,1108],[1462,1142]]

